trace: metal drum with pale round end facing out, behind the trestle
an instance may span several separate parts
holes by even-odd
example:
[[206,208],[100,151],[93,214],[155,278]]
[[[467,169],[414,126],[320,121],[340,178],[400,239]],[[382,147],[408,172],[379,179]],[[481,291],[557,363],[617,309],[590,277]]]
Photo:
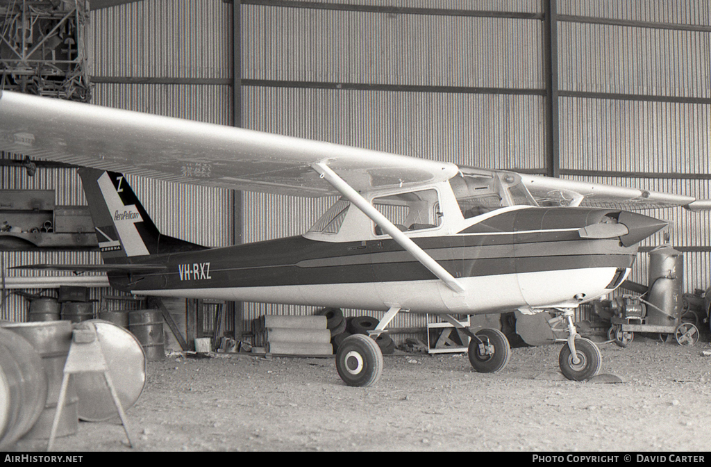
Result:
[[[141,342],[113,322],[87,320],[85,323],[91,323],[96,329],[112,384],[122,409],[127,411],[137,402],[146,385],[146,355]],[[82,372],[73,377],[81,420],[102,421],[118,416],[102,372]]]

